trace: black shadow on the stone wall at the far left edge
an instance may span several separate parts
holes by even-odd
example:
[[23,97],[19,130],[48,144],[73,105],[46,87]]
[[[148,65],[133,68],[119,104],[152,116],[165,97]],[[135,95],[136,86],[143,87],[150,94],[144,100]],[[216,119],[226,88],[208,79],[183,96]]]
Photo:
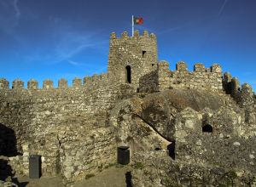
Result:
[[0,123],[0,156],[18,156],[15,131]]

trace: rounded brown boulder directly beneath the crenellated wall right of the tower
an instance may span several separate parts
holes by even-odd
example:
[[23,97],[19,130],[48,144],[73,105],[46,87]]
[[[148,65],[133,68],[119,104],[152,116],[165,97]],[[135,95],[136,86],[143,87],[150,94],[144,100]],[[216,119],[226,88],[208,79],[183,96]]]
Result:
[[[172,141],[175,132],[175,117],[179,111],[186,107],[195,111],[201,111],[206,107],[216,110],[222,105],[224,105],[224,100],[218,95],[209,94],[202,90],[172,89],[150,94],[143,99],[141,117],[162,136]],[[194,128],[192,121],[187,121],[186,126]]]

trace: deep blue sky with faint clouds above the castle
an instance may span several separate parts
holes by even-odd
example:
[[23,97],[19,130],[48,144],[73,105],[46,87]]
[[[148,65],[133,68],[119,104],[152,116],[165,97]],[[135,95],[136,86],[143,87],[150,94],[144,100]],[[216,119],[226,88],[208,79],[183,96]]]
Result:
[[107,72],[109,35],[154,32],[159,59],[222,65],[256,88],[255,0],[0,0],[0,77],[39,87],[46,78]]

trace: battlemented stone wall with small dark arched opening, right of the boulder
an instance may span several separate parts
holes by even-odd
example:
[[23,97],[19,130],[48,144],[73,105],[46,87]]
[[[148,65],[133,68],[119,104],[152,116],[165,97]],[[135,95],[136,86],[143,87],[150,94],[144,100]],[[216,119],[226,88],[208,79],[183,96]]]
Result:
[[242,112],[228,107],[200,113],[184,109],[175,124],[175,159],[256,173],[256,136],[245,139],[246,127]]

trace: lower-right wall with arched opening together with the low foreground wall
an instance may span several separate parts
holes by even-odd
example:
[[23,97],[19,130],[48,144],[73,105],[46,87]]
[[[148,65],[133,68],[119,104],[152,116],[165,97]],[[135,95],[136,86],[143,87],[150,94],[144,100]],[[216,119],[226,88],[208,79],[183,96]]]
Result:
[[[202,130],[205,125],[212,126],[212,131]],[[245,133],[244,109],[236,111],[226,105],[198,112],[188,107],[178,114],[174,127],[172,147],[133,155],[135,186],[256,184],[256,130]]]

